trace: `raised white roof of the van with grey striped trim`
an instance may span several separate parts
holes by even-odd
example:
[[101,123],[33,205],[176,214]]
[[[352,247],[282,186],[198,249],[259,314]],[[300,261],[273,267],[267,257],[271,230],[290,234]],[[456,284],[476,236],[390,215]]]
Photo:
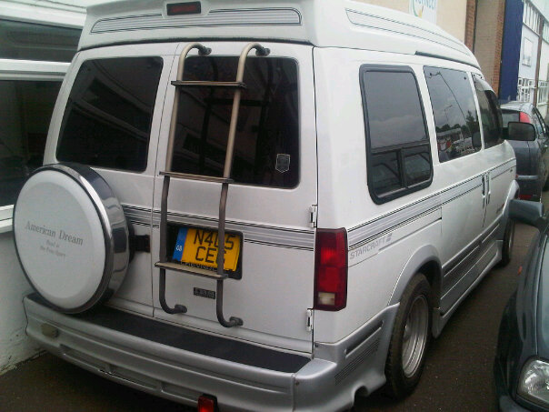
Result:
[[[433,55],[478,67],[437,25],[354,0],[201,0],[200,13],[167,15],[185,0],[122,0],[88,8],[80,49],[174,40],[267,40]],[[185,7],[184,7],[185,8]]]

